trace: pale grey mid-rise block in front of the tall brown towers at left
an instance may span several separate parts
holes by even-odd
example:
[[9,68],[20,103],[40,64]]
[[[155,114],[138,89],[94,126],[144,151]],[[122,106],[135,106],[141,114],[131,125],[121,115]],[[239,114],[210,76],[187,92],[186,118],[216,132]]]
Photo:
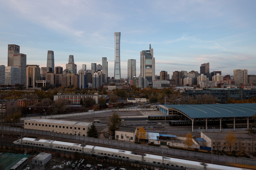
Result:
[[20,84],[20,68],[5,67],[5,85]]

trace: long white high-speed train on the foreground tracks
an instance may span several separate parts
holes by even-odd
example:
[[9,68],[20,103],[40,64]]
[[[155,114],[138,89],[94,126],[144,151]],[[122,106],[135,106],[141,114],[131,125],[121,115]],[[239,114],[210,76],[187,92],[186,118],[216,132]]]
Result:
[[52,141],[52,140],[45,140],[45,139],[35,139],[35,138],[28,138],[24,137],[17,141],[14,141],[14,144],[24,144],[24,145],[35,145],[40,147],[46,148],[53,148],[58,150],[65,150],[65,151],[73,151],[73,152],[81,152],[88,153],[91,155],[99,156],[99,157],[117,157],[127,160],[133,161],[141,161],[141,162],[150,162],[153,164],[162,165],[164,161],[164,165],[176,168],[194,168],[196,170],[247,170],[241,168],[234,168],[222,165],[215,165],[210,163],[201,163],[198,161],[187,161],[183,159],[176,159],[171,157],[163,157],[153,154],[141,154],[135,153],[131,151],[119,150],[119,149],[112,149],[107,147],[99,147],[93,145],[84,145],[83,144],[75,144],[69,142],[60,142],[60,141]]

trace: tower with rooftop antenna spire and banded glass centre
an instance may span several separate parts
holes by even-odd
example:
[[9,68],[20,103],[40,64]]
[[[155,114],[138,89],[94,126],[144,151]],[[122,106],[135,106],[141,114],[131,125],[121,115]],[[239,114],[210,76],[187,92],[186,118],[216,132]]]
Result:
[[155,58],[153,49],[149,44],[149,50],[140,51],[140,76],[144,79],[144,88],[152,87],[155,80]]

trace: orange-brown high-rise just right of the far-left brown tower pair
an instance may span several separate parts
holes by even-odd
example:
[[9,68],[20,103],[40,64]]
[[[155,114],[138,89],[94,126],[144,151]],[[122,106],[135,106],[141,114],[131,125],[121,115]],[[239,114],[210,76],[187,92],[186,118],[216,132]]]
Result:
[[26,88],[34,89],[37,87],[36,81],[40,80],[40,68],[38,65],[27,65],[26,69]]

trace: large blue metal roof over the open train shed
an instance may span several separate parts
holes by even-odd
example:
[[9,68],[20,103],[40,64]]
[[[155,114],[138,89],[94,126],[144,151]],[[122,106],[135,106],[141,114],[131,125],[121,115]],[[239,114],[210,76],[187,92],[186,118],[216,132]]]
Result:
[[190,118],[251,117],[256,114],[256,103],[243,104],[187,104],[166,105],[182,111]]

